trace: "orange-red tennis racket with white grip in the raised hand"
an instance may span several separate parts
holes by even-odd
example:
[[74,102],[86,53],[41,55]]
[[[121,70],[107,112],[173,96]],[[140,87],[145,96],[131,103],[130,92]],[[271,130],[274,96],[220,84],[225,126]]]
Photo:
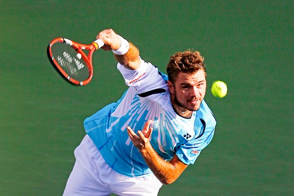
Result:
[[[50,42],[47,53],[51,63],[63,78],[72,84],[82,86],[91,81],[92,55],[103,45],[103,41],[99,39],[91,45],[84,45],[59,37]],[[83,50],[89,50],[88,55]]]

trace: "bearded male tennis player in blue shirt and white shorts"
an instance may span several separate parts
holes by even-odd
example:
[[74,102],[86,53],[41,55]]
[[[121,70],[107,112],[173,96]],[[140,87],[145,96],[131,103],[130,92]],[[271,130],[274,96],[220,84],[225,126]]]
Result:
[[112,29],[98,36],[112,50],[128,90],[84,121],[64,196],[156,196],[194,164],[212,140],[216,120],[203,100],[204,58],[174,54],[168,76]]

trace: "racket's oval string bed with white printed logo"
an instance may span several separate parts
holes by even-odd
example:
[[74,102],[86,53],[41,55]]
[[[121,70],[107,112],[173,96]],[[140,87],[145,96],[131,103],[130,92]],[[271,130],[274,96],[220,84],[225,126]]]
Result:
[[51,46],[53,58],[69,77],[77,81],[84,81],[89,77],[87,62],[73,47],[66,43],[57,42]]

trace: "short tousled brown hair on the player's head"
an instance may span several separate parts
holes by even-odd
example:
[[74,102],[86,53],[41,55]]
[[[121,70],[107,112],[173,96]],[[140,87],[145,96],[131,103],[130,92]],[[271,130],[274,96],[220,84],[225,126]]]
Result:
[[193,74],[201,69],[205,72],[203,61],[204,57],[198,51],[187,50],[175,53],[167,65],[169,80],[173,83],[178,73]]

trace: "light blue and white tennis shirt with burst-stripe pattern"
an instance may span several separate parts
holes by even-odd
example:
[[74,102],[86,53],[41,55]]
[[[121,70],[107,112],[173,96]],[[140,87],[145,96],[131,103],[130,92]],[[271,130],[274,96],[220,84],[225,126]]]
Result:
[[114,171],[127,176],[151,173],[139,150],[130,140],[126,126],[142,130],[153,120],[150,143],[164,160],[176,154],[185,164],[194,164],[201,150],[213,138],[216,120],[203,100],[190,119],[172,108],[167,75],[141,59],[137,70],[118,64],[129,86],[117,103],[111,103],[84,121],[86,133],[93,140],[105,162]]

